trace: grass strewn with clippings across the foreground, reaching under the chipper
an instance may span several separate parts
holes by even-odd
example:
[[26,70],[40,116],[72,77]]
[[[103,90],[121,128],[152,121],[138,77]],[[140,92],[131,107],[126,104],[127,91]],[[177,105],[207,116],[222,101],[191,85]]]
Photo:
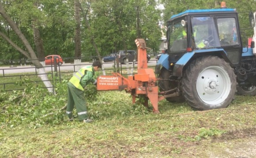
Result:
[[87,103],[92,123],[65,118],[58,125],[36,129],[28,124],[2,124],[0,157],[256,157],[255,97],[236,96],[228,108],[210,111],[194,111],[186,103],[164,100],[156,115],[142,105],[132,105],[124,91],[99,94],[96,101]]

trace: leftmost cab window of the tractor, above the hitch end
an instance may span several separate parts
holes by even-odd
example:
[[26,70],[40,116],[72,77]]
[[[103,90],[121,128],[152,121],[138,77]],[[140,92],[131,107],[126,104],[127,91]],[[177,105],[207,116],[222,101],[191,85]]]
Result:
[[168,42],[170,52],[185,51],[187,49],[187,30],[181,22],[168,26]]

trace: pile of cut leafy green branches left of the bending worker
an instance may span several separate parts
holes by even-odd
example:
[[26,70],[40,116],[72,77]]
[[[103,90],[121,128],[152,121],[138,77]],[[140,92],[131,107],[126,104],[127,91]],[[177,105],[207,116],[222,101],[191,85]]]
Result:
[[[60,110],[64,106],[66,97],[54,96],[40,85],[32,86],[29,79],[23,79],[19,85],[26,84],[24,91],[15,90],[1,95],[0,121],[4,126],[29,124],[30,128],[38,128],[44,124],[58,124],[63,121],[64,113]],[[56,84],[56,89],[66,84]],[[60,92],[60,91],[58,91]],[[61,92],[60,92],[61,93]]]

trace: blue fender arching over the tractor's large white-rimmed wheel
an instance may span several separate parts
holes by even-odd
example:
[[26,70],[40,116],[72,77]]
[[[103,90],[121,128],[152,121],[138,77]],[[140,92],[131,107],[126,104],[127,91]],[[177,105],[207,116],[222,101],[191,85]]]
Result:
[[[192,52],[185,53],[174,65],[173,75],[177,77],[182,77],[182,71],[184,67],[192,61],[195,57],[202,57],[205,55],[213,55],[223,58],[226,62],[230,63],[225,50],[223,49],[205,49],[205,50],[194,50]],[[209,61],[211,62],[211,61]]]

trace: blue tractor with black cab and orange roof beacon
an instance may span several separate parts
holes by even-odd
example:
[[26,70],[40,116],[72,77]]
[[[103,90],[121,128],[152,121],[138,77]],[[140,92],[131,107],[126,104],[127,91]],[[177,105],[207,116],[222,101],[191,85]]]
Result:
[[[255,30],[255,14],[248,12]],[[236,92],[256,95],[254,42],[243,46],[236,9],[187,10],[167,22],[167,44],[156,65],[166,100],[198,110],[226,108]]]

